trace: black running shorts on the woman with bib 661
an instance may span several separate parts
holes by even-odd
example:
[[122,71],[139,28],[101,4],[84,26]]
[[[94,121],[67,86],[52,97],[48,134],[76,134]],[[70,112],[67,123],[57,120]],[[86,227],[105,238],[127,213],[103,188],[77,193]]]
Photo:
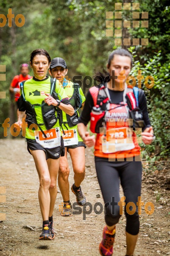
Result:
[[65,148],[63,138],[61,137],[61,146],[55,148],[43,148],[36,140],[26,139],[28,152],[31,154],[30,150],[43,150],[46,154],[46,160],[48,158],[57,159],[60,156],[64,156]]

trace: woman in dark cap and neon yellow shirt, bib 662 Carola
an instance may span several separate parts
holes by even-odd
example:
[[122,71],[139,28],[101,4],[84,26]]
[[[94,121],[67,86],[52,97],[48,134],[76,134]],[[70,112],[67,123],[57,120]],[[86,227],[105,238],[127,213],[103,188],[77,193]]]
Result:
[[[78,108],[82,108],[85,102],[85,96],[79,85],[73,84],[66,80],[67,65],[62,58],[54,58],[51,60],[49,73],[56,78],[64,88],[71,105],[74,107],[75,114],[68,116],[63,111],[60,115],[63,126],[63,140],[65,146],[65,155],[60,159],[60,167],[58,173],[58,185],[63,196],[63,212],[62,216],[72,215],[72,206],[69,197],[69,165],[67,161],[67,151],[70,154],[73,171],[74,184],[71,187],[72,192],[76,195],[77,203],[83,206],[86,203],[86,197],[81,190],[81,182],[85,178],[85,144],[78,134]],[[70,79],[69,79],[70,80]]]

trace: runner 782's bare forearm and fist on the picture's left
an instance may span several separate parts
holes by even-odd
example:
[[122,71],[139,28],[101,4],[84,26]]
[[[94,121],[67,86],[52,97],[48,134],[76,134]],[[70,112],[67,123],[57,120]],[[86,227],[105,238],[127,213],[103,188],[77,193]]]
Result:
[[85,126],[83,123],[79,123],[78,124],[78,133],[80,135],[80,137],[82,138],[82,140],[84,141],[84,143],[87,145],[87,147],[92,147],[95,144],[95,136],[89,135],[89,132],[87,132],[87,126]]

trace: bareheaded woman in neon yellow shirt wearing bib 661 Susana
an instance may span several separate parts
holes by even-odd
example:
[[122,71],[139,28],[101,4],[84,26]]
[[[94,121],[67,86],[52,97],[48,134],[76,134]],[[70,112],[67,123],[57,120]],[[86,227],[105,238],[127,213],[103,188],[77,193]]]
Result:
[[[55,92],[52,92],[54,83],[52,84],[50,77],[47,76],[50,62],[48,52],[43,49],[37,49],[31,53],[30,66],[34,76],[23,85],[22,95],[18,100],[18,122],[16,123],[16,127],[23,127],[22,121],[26,113],[29,126],[26,127],[27,149],[34,158],[40,180],[39,202],[43,219],[40,240],[52,240],[55,236],[53,210],[57,195],[56,180],[60,156],[64,155],[63,139],[55,107],[71,116],[74,113],[64,89],[59,86],[57,80]],[[51,94],[58,95],[58,98],[53,98]],[[30,107],[30,103],[33,108]]]

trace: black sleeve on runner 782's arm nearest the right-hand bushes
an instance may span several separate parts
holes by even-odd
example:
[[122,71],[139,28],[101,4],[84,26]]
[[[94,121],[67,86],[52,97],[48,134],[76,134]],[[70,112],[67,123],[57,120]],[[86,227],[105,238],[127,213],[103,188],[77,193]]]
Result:
[[146,97],[142,90],[139,90],[139,92],[138,92],[138,100],[139,100],[139,108],[142,110],[143,120],[146,124],[146,126],[142,129],[142,131],[144,131],[147,127],[151,126],[151,123],[150,123],[150,119],[148,116]]

